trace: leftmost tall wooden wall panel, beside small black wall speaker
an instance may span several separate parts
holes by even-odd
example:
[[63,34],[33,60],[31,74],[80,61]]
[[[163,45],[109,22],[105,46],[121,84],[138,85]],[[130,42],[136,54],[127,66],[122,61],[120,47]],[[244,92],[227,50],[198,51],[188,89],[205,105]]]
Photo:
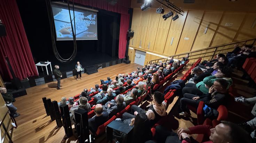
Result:
[[139,47],[140,44],[140,20],[141,20],[141,10],[139,8],[133,9],[133,15],[132,15],[132,27],[131,29],[134,30],[133,37],[130,38],[130,44],[135,47]]

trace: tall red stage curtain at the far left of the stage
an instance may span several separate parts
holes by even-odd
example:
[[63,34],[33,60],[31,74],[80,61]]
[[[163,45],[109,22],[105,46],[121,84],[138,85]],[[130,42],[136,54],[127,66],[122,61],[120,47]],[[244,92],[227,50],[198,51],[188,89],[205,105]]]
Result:
[[0,19],[6,27],[7,34],[7,36],[0,37],[0,73],[2,78],[4,80],[13,78],[5,63],[5,56],[9,58],[17,78],[24,79],[38,75],[16,1],[0,0],[0,3]]

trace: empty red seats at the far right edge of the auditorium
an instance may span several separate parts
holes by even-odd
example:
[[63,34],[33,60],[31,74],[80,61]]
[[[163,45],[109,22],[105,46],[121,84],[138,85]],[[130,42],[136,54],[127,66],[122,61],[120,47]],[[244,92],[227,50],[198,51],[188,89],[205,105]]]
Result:
[[253,79],[253,81],[256,82],[256,72],[253,72],[256,70],[256,58],[247,58],[245,60],[245,63],[243,63],[243,69],[248,73],[251,79]]

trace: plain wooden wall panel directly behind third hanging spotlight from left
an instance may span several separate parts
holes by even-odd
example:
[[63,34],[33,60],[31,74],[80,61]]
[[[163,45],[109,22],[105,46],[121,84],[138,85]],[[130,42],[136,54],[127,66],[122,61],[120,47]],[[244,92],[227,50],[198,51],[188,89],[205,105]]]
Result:
[[163,19],[163,15],[167,14],[168,12],[170,11],[166,10],[164,14],[160,15],[160,20],[159,20],[159,25],[157,29],[154,50],[153,50],[154,52],[161,53],[161,54],[163,54],[164,52],[166,39],[167,39],[169,28],[172,22],[172,17],[169,17],[166,20]]

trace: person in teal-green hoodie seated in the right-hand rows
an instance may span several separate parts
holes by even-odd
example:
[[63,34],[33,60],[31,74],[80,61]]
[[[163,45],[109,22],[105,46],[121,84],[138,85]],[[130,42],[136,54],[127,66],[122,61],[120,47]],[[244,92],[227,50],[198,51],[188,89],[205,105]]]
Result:
[[228,81],[228,87],[227,89],[233,84],[233,81],[231,78],[229,78],[230,70],[226,66],[220,66],[218,69],[218,72],[215,75],[211,75],[209,77],[206,77],[203,79],[203,81],[200,81],[199,83],[187,83],[186,86],[182,89],[182,93],[191,93],[194,95],[203,95],[207,94],[209,91],[209,87],[212,86],[215,80],[219,78],[223,78]]

